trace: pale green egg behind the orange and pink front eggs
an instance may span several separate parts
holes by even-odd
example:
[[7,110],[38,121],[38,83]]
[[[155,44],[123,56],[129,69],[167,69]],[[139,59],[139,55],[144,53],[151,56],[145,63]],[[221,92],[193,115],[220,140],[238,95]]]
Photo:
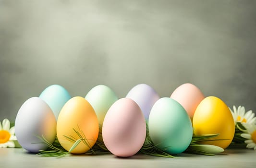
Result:
[[108,86],[98,85],[87,93],[85,99],[94,108],[98,122],[102,126],[107,111],[118,98]]

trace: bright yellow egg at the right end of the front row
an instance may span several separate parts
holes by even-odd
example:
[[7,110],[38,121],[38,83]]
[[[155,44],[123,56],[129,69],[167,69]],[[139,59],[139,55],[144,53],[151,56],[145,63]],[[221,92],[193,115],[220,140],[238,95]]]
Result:
[[217,137],[209,139],[218,141],[205,141],[202,144],[217,145],[223,149],[232,142],[235,132],[231,111],[221,99],[215,96],[206,97],[197,106],[193,127],[195,135],[219,133]]

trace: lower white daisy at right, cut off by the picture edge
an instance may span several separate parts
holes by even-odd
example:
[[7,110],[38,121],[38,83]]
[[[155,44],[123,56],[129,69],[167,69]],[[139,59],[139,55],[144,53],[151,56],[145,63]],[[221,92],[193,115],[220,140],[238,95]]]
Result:
[[242,133],[241,136],[247,140],[244,141],[247,148],[256,150],[256,125],[243,124],[248,133]]

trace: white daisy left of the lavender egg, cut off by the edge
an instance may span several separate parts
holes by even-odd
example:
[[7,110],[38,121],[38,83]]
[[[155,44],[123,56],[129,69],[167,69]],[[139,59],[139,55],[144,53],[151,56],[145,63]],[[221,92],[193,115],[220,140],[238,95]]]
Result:
[[8,119],[4,119],[2,123],[0,122],[0,148],[15,147],[13,141],[16,141],[17,138],[14,132],[14,127],[10,129],[10,121]]

